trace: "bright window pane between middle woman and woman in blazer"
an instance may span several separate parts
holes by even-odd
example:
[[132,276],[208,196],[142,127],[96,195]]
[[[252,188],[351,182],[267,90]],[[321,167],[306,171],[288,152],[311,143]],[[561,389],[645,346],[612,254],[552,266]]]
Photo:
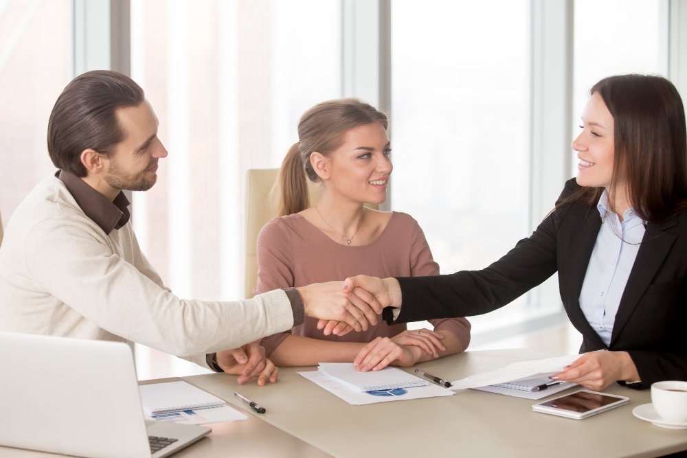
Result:
[[529,11],[392,2],[392,205],[420,222],[442,273],[484,268],[530,229]]

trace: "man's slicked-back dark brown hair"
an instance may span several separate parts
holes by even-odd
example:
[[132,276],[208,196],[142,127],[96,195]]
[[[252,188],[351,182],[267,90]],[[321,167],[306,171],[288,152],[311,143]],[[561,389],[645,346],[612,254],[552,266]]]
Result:
[[52,163],[60,170],[86,176],[83,150],[109,153],[124,137],[115,111],[143,101],[143,89],[122,73],[94,70],[74,78],[50,113],[47,150]]

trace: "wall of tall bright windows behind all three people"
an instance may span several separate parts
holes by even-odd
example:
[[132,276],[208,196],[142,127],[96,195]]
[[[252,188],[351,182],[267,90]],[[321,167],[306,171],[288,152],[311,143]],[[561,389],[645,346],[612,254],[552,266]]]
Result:
[[[378,74],[385,68],[369,65],[365,52],[349,61],[356,54],[351,43],[356,51],[373,51],[375,37],[386,30],[368,10],[360,13],[376,8],[372,2],[129,0],[131,17],[120,19],[131,27],[115,27],[112,37],[126,43],[118,34],[131,31],[131,75],[146,90],[170,152],[158,184],[133,193],[133,220],[144,251],[181,297],[243,295],[245,171],[278,167],[297,140],[298,117],[316,102],[344,92],[361,95],[349,90],[348,80],[385,78]],[[673,77],[685,80],[679,73],[684,40],[666,23],[668,11],[676,14],[673,26],[684,22],[675,0],[383,5],[390,5],[390,19],[381,16],[392,31],[391,78],[381,81],[392,88],[391,207],[420,222],[442,273],[483,268],[529,235],[556,197],[552,183],[542,182],[556,187],[569,166],[576,172],[569,142],[549,148],[541,139],[552,129],[542,126],[568,135],[572,124],[576,135],[594,82],[615,73],[665,75],[667,63]],[[5,224],[54,170],[45,146],[47,119],[73,68],[107,67],[110,34],[102,31],[113,25],[109,7],[91,0],[0,0]],[[84,10],[100,10],[102,17],[93,21]],[[542,19],[553,10],[555,21]],[[669,38],[671,56],[680,62],[668,62]],[[565,56],[564,65],[546,67],[551,56]],[[541,154],[565,166],[550,167]],[[539,288],[513,306],[471,319],[475,336],[486,332],[484,339],[491,339],[508,325],[560,311],[555,289],[539,294]],[[141,378],[198,371],[150,354],[137,350]]]

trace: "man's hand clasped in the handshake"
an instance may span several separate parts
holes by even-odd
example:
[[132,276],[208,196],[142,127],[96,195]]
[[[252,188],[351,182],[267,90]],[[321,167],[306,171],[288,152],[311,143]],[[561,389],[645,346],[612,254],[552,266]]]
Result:
[[[365,331],[370,324],[376,325],[382,306],[377,301],[364,301],[357,295],[347,295],[341,290],[343,282],[315,283],[296,288],[303,299],[305,313],[309,317],[344,323],[341,328],[348,331]],[[351,329],[348,329],[347,326]]]

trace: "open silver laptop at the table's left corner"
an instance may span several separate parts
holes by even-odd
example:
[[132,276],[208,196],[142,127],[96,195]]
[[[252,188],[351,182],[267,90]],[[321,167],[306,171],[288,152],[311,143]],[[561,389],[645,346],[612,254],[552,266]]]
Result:
[[121,342],[0,332],[0,407],[0,445],[78,457],[167,457],[212,431],[146,422]]

